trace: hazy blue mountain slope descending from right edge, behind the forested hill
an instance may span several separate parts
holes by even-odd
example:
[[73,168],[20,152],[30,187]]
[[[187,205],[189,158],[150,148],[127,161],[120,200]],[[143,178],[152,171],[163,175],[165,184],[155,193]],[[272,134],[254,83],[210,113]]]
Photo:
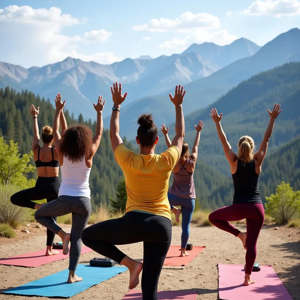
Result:
[[[183,103],[185,118],[189,119],[189,113],[214,103],[238,83],[251,76],[292,61],[300,61],[300,30],[298,28],[277,36],[252,56],[241,58],[210,76],[185,84],[184,88],[187,90]],[[152,113],[157,125],[170,124],[175,120],[174,105],[168,93],[174,94],[174,88],[164,94],[143,97],[121,107],[120,125],[121,128],[126,128],[125,134],[128,138],[135,137],[137,118],[141,113]],[[246,91],[241,90],[239,97],[242,99],[245,93]],[[228,101],[230,102],[230,99]],[[104,119],[105,127],[109,127],[109,121],[109,117]]]

